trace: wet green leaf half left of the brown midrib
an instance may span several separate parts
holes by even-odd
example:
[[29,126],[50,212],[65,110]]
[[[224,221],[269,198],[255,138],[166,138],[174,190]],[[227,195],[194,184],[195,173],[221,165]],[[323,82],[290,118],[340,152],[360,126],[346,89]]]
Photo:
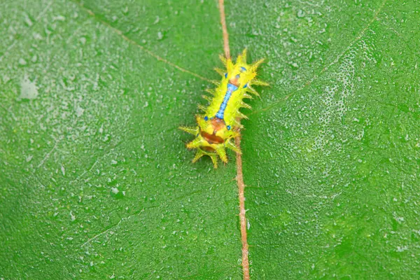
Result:
[[210,84],[144,50],[218,78],[216,4],[1,6],[0,277],[240,279],[235,165],[177,129]]

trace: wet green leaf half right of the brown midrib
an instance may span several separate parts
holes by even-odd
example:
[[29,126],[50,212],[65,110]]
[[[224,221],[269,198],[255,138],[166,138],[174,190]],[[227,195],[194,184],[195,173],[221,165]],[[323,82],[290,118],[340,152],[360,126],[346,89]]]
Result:
[[244,122],[251,278],[418,279],[418,5],[243,5],[231,45],[272,84]]

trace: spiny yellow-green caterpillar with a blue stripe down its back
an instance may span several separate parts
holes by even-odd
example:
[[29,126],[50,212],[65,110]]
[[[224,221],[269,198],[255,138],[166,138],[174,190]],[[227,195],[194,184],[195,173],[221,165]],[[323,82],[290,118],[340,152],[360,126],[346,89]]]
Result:
[[228,162],[225,148],[241,153],[231,139],[239,136],[239,132],[233,130],[233,127],[242,128],[240,120],[246,118],[239,109],[242,107],[251,109],[251,106],[243,101],[245,98],[252,99],[246,92],[259,96],[251,85],[268,85],[255,78],[257,68],[264,59],[246,64],[246,50],[244,50],[237,57],[236,64],[230,57],[225,58],[221,55],[221,60],[227,71],[215,69],[221,74],[222,80],[220,83],[215,82],[218,85],[216,89],[207,90],[213,95],[212,97],[203,95],[204,99],[209,101],[209,106],[206,108],[199,105],[204,115],[195,116],[197,127],[179,127],[180,130],[195,135],[195,139],[187,144],[187,148],[197,149],[193,162],[203,155],[209,155],[214,168],[217,168],[217,155],[223,162]]

